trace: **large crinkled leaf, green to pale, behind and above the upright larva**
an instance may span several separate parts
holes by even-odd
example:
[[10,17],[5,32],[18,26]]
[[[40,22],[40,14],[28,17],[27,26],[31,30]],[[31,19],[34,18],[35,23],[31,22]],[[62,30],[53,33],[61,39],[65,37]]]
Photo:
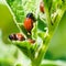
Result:
[[32,12],[32,13],[34,13],[35,16],[37,16],[36,14],[38,12],[36,12],[36,11],[37,11],[38,3],[40,3],[40,1],[37,1],[37,0],[33,0],[33,1],[30,1],[30,0],[7,0],[7,3],[11,8],[15,20],[19,23],[24,22],[24,18],[26,16],[26,14],[29,12]]

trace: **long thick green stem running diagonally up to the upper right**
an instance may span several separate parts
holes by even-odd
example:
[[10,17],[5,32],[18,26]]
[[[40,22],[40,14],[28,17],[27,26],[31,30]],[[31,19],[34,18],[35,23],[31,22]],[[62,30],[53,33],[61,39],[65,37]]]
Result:
[[56,28],[58,26],[58,23],[59,23],[64,13],[65,13],[65,10],[64,10],[64,6],[63,6],[63,8],[61,9],[61,11],[58,12],[58,14],[56,16],[56,20],[54,21],[55,24],[50,29],[50,32],[48,32],[50,36],[46,36],[44,38],[43,46],[40,50],[37,57],[33,61],[33,66],[40,66],[41,65],[43,56],[45,55],[45,53],[47,51],[48,44],[50,44],[50,42],[54,35]]

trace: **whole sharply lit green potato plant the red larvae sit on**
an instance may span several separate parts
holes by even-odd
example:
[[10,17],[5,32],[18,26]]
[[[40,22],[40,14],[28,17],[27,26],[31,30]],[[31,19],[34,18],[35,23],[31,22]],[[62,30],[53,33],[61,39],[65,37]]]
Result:
[[[42,66],[41,62],[48,44],[66,11],[66,0],[6,0],[6,2],[19,33],[24,36],[24,40],[9,38],[9,42],[18,46],[31,59],[30,66]],[[43,2],[44,11],[40,9],[41,2]],[[28,13],[33,13],[35,19],[30,34],[24,28]]]

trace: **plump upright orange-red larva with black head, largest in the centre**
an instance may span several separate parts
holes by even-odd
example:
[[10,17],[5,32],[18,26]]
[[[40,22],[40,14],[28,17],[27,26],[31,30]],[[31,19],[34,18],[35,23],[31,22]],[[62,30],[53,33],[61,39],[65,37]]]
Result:
[[31,30],[33,29],[33,22],[35,21],[33,13],[28,13],[26,19],[24,21],[25,30],[31,34]]

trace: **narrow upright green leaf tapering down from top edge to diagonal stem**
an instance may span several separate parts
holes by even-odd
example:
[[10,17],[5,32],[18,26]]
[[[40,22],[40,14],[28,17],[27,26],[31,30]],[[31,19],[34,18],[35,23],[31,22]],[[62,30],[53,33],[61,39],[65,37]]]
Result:
[[44,9],[45,9],[45,15],[46,15],[46,22],[48,30],[51,30],[51,9],[52,9],[52,0],[43,0],[44,1]]

